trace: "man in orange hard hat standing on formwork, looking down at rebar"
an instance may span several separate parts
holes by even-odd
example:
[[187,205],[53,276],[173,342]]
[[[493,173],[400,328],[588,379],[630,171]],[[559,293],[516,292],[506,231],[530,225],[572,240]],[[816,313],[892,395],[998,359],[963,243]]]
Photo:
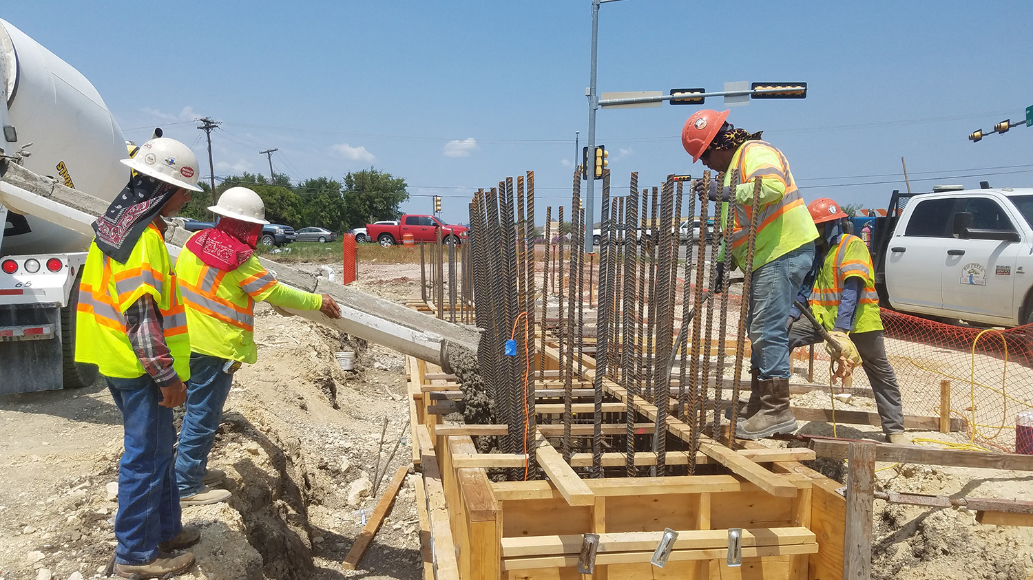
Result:
[[[724,201],[721,223],[733,208],[731,248],[722,248],[712,288],[720,292],[725,260],[731,267],[746,264],[747,237],[753,212],[760,212],[753,253],[753,278],[749,296],[748,331],[753,353],[749,418],[735,425],[735,437],[760,439],[796,430],[789,411],[789,336],[785,321],[792,297],[814,260],[814,227],[796,191],[789,162],[782,152],[760,140],[760,133],[737,129],[725,120],[728,111],[700,110],[682,128],[682,146],[692,161],[719,172],[696,193],[713,201]],[[731,187],[731,171],[738,169],[740,185]],[[723,173],[723,175],[722,175]],[[761,179],[759,206],[753,207],[753,180]],[[730,254],[730,256],[729,256]]]

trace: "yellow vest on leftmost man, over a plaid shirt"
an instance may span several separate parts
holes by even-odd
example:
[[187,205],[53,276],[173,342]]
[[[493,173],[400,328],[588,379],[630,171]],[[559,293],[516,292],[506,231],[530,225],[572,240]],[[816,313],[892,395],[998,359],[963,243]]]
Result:
[[149,224],[126,262],[119,263],[94,241],[83,266],[75,312],[75,360],[100,374],[134,379],[146,374],[126,334],[126,310],[140,296],[154,298],[165,344],[180,380],[190,378],[190,337],[173,260],[161,231]]

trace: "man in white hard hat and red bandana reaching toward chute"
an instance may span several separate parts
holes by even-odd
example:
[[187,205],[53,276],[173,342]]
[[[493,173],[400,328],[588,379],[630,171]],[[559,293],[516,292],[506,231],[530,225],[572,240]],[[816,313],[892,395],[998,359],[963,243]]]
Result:
[[191,332],[187,410],[176,456],[183,506],[214,504],[230,495],[225,489],[209,487],[221,482],[225,474],[208,469],[208,455],[233,373],[241,363],[257,359],[255,300],[341,317],[341,309],[328,294],[280,284],[253,255],[261,226],[269,223],[257,193],[229,188],[209,211],[222,216],[218,225],[190,236],[176,264]]

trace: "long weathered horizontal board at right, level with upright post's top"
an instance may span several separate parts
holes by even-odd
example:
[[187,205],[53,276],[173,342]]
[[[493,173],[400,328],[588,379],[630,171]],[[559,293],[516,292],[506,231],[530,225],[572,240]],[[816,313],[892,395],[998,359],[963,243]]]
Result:
[[[849,442],[824,439],[811,440],[810,447],[819,457],[846,459]],[[875,460],[924,465],[953,465],[1013,472],[1033,472],[1033,455],[991,453],[962,449],[933,449],[911,445],[875,443]]]

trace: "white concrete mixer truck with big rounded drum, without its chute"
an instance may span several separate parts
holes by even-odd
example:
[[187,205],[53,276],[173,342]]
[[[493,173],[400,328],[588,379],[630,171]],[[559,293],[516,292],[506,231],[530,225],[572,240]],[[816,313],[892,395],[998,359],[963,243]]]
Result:
[[[104,200],[129,179],[118,123],[83,74],[0,20],[0,154]],[[72,360],[90,236],[0,205],[0,394],[84,386]]]

